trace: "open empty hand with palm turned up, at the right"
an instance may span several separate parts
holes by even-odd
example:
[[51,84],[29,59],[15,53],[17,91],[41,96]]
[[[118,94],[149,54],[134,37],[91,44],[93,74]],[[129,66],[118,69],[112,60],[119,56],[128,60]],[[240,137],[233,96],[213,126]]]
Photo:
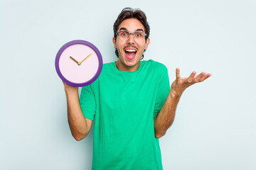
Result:
[[193,71],[189,77],[181,78],[180,69],[176,68],[176,80],[171,84],[171,92],[175,95],[181,96],[183,91],[185,91],[189,86],[205,81],[210,77],[211,74],[206,74],[201,72],[201,74],[196,75]]

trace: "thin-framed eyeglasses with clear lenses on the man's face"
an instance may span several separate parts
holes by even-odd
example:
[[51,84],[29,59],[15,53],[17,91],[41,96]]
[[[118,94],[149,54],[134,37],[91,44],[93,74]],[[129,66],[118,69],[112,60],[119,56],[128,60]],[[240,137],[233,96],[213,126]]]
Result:
[[117,35],[119,36],[120,40],[123,40],[123,41],[128,40],[131,34],[133,35],[134,40],[137,42],[141,42],[146,37],[146,34],[142,33],[141,31],[135,31],[134,33],[129,33],[127,30],[121,30],[117,32]]

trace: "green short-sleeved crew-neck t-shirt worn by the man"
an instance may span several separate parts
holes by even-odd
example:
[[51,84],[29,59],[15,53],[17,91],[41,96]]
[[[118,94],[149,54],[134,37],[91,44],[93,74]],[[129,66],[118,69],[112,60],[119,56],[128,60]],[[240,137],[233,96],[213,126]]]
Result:
[[85,118],[95,118],[92,169],[163,169],[154,117],[169,91],[164,64],[141,61],[136,72],[103,64],[100,77],[80,95]]

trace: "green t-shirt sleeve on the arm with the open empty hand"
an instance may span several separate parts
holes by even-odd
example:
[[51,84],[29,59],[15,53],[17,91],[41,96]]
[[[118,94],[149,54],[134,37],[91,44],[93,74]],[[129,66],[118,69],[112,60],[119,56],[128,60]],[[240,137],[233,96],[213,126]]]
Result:
[[164,102],[166,101],[167,96],[170,92],[170,82],[168,69],[164,66],[161,70],[160,78],[159,78],[159,86],[156,94],[156,103],[154,106],[154,117],[159,114]]

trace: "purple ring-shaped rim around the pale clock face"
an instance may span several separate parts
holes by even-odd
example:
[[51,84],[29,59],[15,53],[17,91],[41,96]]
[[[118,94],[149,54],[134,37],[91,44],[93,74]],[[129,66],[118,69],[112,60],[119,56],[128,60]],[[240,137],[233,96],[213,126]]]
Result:
[[[75,44],[82,44],[82,45],[87,45],[87,46],[91,47],[92,50],[94,50],[96,52],[98,60],[99,60],[99,67],[97,69],[95,76],[92,77],[92,79],[90,79],[84,83],[80,83],[80,84],[74,83],[74,82],[69,81],[68,79],[65,79],[65,77],[63,77],[63,74],[61,74],[60,67],[59,67],[60,55],[63,53],[63,51],[67,47],[69,47],[71,45],[75,45]],[[56,72],[57,72],[58,76],[60,77],[60,79],[62,79],[66,84],[68,84],[70,86],[77,86],[77,87],[88,86],[88,85],[92,84],[92,82],[94,82],[100,76],[100,73],[102,71],[102,64],[103,64],[103,61],[102,61],[102,55],[100,54],[100,51],[97,49],[97,47],[95,47],[95,45],[93,45],[91,42],[87,42],[86,40],[72,40],[70,42],[65,43],[65,45],[60,47],[60,50],[58,50],[56,58],[55,58],[55,69],[56,69]]]

